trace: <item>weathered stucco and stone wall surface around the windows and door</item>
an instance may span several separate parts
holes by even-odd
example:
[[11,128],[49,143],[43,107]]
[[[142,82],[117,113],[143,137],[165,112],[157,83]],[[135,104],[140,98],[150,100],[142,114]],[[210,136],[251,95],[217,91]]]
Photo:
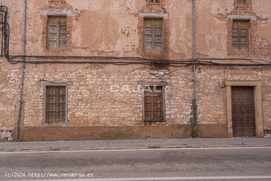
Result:
[[[247,58],[246,60],[208,60],[220,63],[268,63],[271,58],[270,0],[248,0],[246,8],[237,8],[236,0],[196,0],[197,58]],[[2,0],[8,7],[10,25],[10,55],[22,54],[23,0]],[[191,0],[27,0],[27,55],[61,56],[117,56],[153,59],[192,58],[192,2]],[[68,47],[47,49],[47,19],[44,10],[73,11],[67,16]],[[143,17],[139,12],[168,13],[163,20],[163,52],[143,51]],[[232,20],[227,15],[255,15],[250,21],[249,52],[231,49]],[[40,61],[40,59],[27,59]],[[60,61],[59,59],[49,59]],[[73,61],[82,61],[74,59]],[[99,60],[100,61],[100,60]],[[116,60],[112,60],[116,61]],[[129,60],[126,60],[129,61]],[[16,125],[19,95],[20,64],[10,64],[0,58],[0,124],[5,130],[4,141],[10,138],[6,130]],[[264,129],[271,129],[271,68],[197,66],[197,103],[200,137],[227,137],[226,89],[221,80],[262,80]],[[43,120],[43,86],[40,80],[72,82],[68,87],[68,123],[45,124]],[[142,122],[143,98],[138,82],[164,82],[166,121]],[[135,90],[134,96],[114,96],[110,86]],[[192,67],[102,64],[29,64],[25,66],[22,109],[25,140],[46,140],[37,130],[51,135],[68,126],[76,135],[78,126],[86,132],[97,127],[94,136],[74,136],[75,139],[95,139],[101,135],[99,127],[111,130],[112,138],[121,139],[114,130],[135,126],[125,138],[181,138],[190,136],[189,119],[193,92]],[[124,91],[127,94],[127,91]],[[129,92],[128,92],[129,93]],[[131,95],[131,94],[129,94]],[[150,126],[150,125],[153,125]],[[177,127],[176,127],[177,125]],[[178,127],[178,125],[186,125]],[[208,125],[208,126],[206,126]],[[145,128],[144,126],[150,126]],[[157,126],[157,128],[155,127]],[[34,129],[34,128],[36,129]],[[45,128],[46,127],[46,128]],[[74,128],[76,127],[76,129]],[[167,127],[167,128],[166,128]],[[180,128],[180,129],[179,129]],[[48,129],[48,130],[46,130]],[[105,129],[105,128],[104,128]],[[105,130],[106,130],[105,129]],[[188,130],[187,130],[188,129]],[[107,130],[107,131],[108,131]],[[153,134],[164,130],[161,134]],[[185,131],[183,131],[185,130]],[[104,130],[103,130],[104,131]],[[178,133],[178,132],[181,133]],[[62,131],[61,131],[62,132]],[[63,132],[67,132],[64,130]],[[152,133],[153,132],[153,133]],[[172,134],[169,134],[172,132]],[[185,132],[185,134],[184,134]],[[8,135],[6,137],[6,135]],[[14,135],[14,132],[13,132]],[[114,136],[115,135],[115,136]],[[62,135],[63,136],[63,135]],[[108,138],[108,137],[106,137]],[[124,138],[124,137],[123,137]],[[48,140],[61,139],[57,135]],[[72,140],[70,137],[63,139]],[[101,136],[99,136],[101,139]],[[9,139],[10,140],[10,139]]]

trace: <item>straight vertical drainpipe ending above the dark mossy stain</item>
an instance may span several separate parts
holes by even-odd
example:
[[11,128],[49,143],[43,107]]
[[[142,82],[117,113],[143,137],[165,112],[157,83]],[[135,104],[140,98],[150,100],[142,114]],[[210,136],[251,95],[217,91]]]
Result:
[[195,0],[193,1],[193,100],[196,100],[196,26],[195,26]]

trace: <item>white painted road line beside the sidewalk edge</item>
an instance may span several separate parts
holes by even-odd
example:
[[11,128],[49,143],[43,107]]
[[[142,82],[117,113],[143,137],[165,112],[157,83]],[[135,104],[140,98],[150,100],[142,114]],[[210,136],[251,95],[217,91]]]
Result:
[[[185,148],[157,148],[157,149],[96,149],[96,150],[58,150],[58,151],[10,151],[0,152],[0,154],[11,153],[49,153],[49,152],[92,152],[92,151],[151,151],[151,150],[186,150],[186,149],[259,149],[259,148],[271,148],[271,146],[259,146],[259,147],[185,147]],[[33,148],[34,149],[34,148]],[[48,149],[48,148],[44,148]]]

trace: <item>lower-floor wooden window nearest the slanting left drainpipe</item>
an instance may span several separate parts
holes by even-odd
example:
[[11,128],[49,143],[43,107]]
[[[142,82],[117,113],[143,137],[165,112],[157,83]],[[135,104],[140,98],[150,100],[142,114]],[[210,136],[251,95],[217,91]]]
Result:
[[66,115],[66,87],[46,86],[46,116],[45,122],[63,122]]

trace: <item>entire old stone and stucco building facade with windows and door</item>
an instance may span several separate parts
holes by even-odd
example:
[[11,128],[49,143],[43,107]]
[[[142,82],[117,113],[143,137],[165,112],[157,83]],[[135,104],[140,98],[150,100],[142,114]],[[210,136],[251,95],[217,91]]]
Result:
[[194,3],[2,0],[0,140],[268,136],[270,0]]

